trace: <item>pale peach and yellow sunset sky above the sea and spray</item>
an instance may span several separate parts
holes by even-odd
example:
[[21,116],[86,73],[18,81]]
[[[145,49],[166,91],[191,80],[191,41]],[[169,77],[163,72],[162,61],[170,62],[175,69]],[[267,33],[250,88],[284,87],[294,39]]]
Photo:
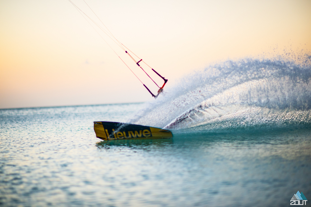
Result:
[[[120,42],[168,78],[168,90],[213,62],[275,47],[311,50],[310,0],[85,1]],[[83,0],[72,2],[99,22]],[[1,0],[0,28],[0,108],[153,99],[68,0]],[[156,93],[135,62],[103,38]]]

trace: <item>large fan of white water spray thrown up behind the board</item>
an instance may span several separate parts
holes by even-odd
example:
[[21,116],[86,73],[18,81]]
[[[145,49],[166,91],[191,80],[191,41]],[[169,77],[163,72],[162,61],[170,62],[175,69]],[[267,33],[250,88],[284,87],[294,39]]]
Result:
[[[297,61],[297,59],[299,61]],[[311,56],[225,61],[183,78],[130,122],[171,130],[311,126]]]

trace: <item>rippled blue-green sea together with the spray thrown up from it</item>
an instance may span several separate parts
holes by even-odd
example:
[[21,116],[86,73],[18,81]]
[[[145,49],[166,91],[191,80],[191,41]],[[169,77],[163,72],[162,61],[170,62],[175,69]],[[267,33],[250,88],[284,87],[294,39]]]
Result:
[[[0,206],[311,206],[310,65],[226,61],[147,103],[1,109]],[[174,137],[103,141],[94,121]]]

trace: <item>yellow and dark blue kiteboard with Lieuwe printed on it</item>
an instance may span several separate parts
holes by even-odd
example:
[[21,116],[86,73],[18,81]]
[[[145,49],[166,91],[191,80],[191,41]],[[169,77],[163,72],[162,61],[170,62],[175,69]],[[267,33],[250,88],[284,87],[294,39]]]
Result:
[[156,127],[121,122],[94,122],[96,137],[102,140],[118,139],[166,139],[172,138],[171,131]]

